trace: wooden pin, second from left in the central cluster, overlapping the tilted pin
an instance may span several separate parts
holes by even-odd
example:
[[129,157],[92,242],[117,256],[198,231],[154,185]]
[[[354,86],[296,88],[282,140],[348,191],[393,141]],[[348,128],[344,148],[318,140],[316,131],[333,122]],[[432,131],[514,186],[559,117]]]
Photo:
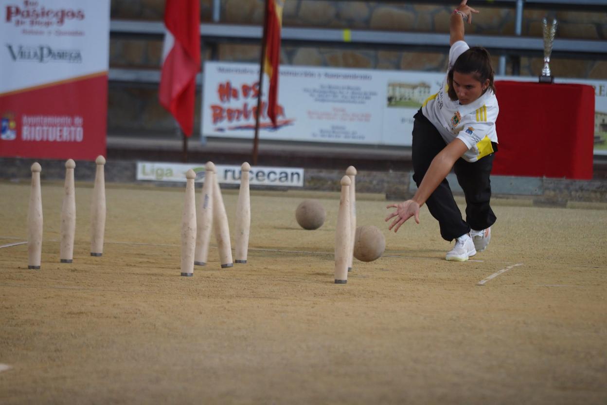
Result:
[[196,210],[196,249],[194,264],[204,266],[209,254],[211,229],[213,226],[213,189],[215,187],[215,165],[207,162],[205,165],[205,183],[200,192],[198,209]]

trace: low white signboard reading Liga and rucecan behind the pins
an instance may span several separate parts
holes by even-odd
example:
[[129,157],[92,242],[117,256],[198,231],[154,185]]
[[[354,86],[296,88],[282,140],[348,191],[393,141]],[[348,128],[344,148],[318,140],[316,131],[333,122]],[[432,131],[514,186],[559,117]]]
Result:
[[[205,165],[189,163],[137,162],[137,180],[154,182],[185,182],[186,172],[196,173],[195,182],[205,181]],[[223,184],[240,184],[240,166],[215,165],[217,181]],[[249,171],[249,183],[263,186],[304,186],[304,169],[253,166]]]

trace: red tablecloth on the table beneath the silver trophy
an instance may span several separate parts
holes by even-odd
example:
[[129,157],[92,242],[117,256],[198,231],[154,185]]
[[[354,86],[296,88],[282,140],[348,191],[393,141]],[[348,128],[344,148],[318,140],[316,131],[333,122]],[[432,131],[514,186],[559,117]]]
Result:
[[594,89],[496,81],[500,145],[492,174],[592,179]]

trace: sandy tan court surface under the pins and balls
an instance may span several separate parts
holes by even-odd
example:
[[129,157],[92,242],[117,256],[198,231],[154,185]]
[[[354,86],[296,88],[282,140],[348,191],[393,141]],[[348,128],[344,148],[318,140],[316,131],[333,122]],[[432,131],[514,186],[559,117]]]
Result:
[[[489,248],[454,263],[427,208],[394,234],[388,201],[359,194],[357,223],[384,231],[386,250],[336,285],[336,192],[253,189],[248,263],[221,269],[212,239],[207,265],[181,277],[185,184],[108,184],[91,257],[92,184],[76,183],[61,264],[63,183],[43,182],[41,270],[23,243],[29,190],[0,183],[2,404],[607,402],[600,204],[495,200]],[[223,198],[234,247],[237,190]],[[307,198],[327,211],[318,230],[296,222]]]

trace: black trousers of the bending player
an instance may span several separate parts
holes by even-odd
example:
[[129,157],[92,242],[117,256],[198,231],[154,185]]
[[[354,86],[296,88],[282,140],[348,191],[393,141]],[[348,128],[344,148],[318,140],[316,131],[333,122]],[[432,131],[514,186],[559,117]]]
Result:
[[[447,146],[447,143],[428,118],[424,117],[421,110],[414,118],[413,180],[419,187],[432,159]],[[443,179],[426,201],[430,214],[438,220],[443,239],[453,240],[470,232],[470,228],[480,231],[495,223],[495,214],[489,206],[491,199],[489,174],[494,157],[490,154],[473,163],[459,158],[453,165],[458,183],[466,196],[466,221],[461,217],[461,211],[453,199],[453,192],[447,179]]]

